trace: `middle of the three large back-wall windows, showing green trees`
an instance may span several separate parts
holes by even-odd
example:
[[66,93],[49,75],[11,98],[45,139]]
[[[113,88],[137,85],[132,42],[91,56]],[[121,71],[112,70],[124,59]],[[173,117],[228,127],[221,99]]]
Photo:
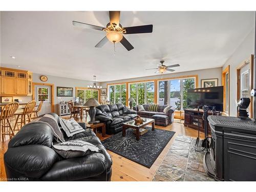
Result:
[[138,82],[130,84],[130,97],[134,98],[134,104],[154,103],[154,82]]

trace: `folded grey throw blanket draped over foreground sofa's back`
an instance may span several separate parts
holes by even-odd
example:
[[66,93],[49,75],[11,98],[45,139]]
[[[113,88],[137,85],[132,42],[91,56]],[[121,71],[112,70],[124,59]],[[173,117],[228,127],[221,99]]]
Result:
[[41,116],[35,118],[34,120],[32,120],[30,122],[30,124],[35,123],[37,121],[44,122],[44,123],[48,124],[51,127],[54,138],[58,143],[65,142],[63,134],[60,131],[58,122],[56,121],[56,119],[52,115],[50,115],[50,114],[41,115]]

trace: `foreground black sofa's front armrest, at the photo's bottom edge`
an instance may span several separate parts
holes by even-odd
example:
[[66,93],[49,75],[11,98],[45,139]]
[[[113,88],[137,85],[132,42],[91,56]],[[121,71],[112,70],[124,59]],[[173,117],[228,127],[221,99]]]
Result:
[[[95,177],[104,172],[106,172],[104,155],[93,153],[56,162],[41,179],[45,181],[75,181]],[[106,181],[106,177],[102,180]]]

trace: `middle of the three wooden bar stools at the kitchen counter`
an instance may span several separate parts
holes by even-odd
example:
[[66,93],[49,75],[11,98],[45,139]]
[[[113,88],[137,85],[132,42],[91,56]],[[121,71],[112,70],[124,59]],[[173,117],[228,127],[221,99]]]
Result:
[[[16,119],[16,122],[14,125],[14,131],[19,131],[18,127],[16,128],[17,123],[20,123],[20,129],[22,128],[23,125],[25,125],[27,123],[26,115],[27,115],[28,121],[29,122],[31,121],[30,116],[33,113],[35,104],[36,104],[36,102],[34,100],[32,100],[26,104],[25,109],[22,113],[15,113],[15,115],[17,115],[17,119]],[[18,121],[19,117],[20,117],[20,121]]]

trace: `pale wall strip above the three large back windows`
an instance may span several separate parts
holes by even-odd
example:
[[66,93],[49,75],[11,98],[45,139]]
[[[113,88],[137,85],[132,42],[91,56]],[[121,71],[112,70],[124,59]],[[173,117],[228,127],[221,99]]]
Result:
[[130,81],[161,79],[161,78],[168,78],[168,77],[173,78],[173,77],[186,76],[186,75],[198,75],[199,87],[201,87],[201,79],[212,79],[212,78],[218,78],[218,85],[221,86],[222,68],[212,68],[212,69],[203,69],[203,70],[196,70],[196,71],[187,71],[187,72],[181,72],[181,73],[168,73],[163,75],[139,77],[139,78],[132,78],[132,79],[122,79],[122,80],[116,80],[116,81],[101,82],[100,85],[102,86],[102,88],[106,88],[107,83],[121,83],[121,82],[130,82]]

